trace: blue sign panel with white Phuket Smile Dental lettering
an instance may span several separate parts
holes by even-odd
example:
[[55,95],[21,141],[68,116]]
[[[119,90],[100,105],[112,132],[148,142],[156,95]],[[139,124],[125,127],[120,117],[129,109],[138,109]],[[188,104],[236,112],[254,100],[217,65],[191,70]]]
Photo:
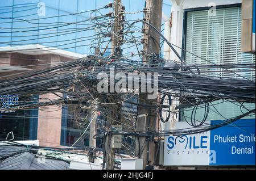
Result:
[[216,160],[209,165],[255,165],[255,119],[237,120],[210,131],[210,150]]

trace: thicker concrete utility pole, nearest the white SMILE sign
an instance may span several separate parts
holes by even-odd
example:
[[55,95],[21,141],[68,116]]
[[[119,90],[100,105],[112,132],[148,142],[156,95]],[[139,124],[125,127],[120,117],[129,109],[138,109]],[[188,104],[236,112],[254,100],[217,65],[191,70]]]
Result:
[[[144,20],[158,31],[161,29],[163,0],[146,0],[144,9]],[[160,35],[144,23],[144,64],[148,65],[150,57],[147,54],[159,57],[160,53]],[[150,65],[148,65],[150,66]],[[147,99],[146,93],[139,95],[137,133],[155,131],[156,128],[156,99]],[[154,137],[140,137],[136,141],[136,153],[139,158],[143,158],[143,169],[150,169],[154,165]]]

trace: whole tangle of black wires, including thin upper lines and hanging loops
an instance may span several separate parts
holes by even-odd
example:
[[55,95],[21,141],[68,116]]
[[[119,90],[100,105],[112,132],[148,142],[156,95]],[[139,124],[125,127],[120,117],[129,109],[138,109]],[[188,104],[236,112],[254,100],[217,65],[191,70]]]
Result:
[[[34,66],[38,69],[1,80],[1,94],[22,95],[24,99],[33,100],[22,101],[17,106],[2,108],[1,111],[11,112],[47,106],[57,106],[61,109],[69,104],[77,104],[79,107],[75,108],[73,119],[81,128],[89,127],[89,121],[85,118],[86,113],[82,115],[81,112],[85,112],[85,110],[91,110],[92,112],[100,111],[101,115],[104,117],[104,121],[101,120],[100,133],[97,133],[94,137],[105,138],[105,134],[122,134],[125,136],[123,139],[126,140],[123,141],[123,151],[125,151],[126,154],[132,153],[133,155],[135,155],[134,140],[138,139],[138,137],[161,137],[169,134],[181,135],[205,132],[210,129],[216,129],[231,124],[242,117],[255,113],[255,109],[249,110],[243,105],[243,103],[255,103],[255,81],[242,77],[238,71],[233,71],[233,69],[249,69],[249,71],[254,71],[255,64],[217,65],[209,61],[209,64],[205,65],[186,64],[185,60],[177,53],[174,45],[168,42],[162,33],[156,30],[150,23],[139,19],[127,20],[124,16],[127,12],[125,12],[124,9],[122,14],[115,16],[112,12],[102,13],[100,11],[111,8],[112,6],[112,4],[109,4],[101,9],[79,12],[79,14],[90,12],[90,17],[77,22],[44,22],[40,23],[39,30],[38,28],[34,29],[35,27],[30,27],[28,28],[29,30],[23,30],[22,27],[19,27],[17,28],[18,30],[15,31],[6,31],[5,29],[5,32],[2,32],[4,34],[7,32],[22,32],[24,36],[21,37],[26,37],[24,40],[19,39],[12,42],[1,42],[1,44],[7,45],[10,43],[11,45],[23,45],[26,44],[28,40],[37,40],[38,37],[35,38],[35,35],[26,35],[26,33],[33,31],[47,32],[40,36],[40,39],[45,41],[44,43],[51,43],[47,41],[47,39],[49,37],[55,37],[56,34],[57,36],[66,36],[77,32],[86,32],[88,34],[89,32],[94,32],[93,36],[61,40],[60,42],[64,42],[63,44],[40,48],[40,52],[54,50],[56,48],[69,49],[89,47],[90,52],[95,55],[85,56],[75,61],[57,62],[56,65],[35,64]],[[46,19],[51,18],[56,18],[56,16],[47,17]],[[122,27],[117,32],[113,30],[115,19],[118,19],[118,23],[120,23]],[[15,20],[15,22],[34,24],[38,19],[25,20],[16,18],[13,20]],[[160,56],[144,52],[144,41],[142,38],[145,32],[138,26],[139,23],[141,23],[141,25],[148,24],[156,34],[159,34],[161,40],[165,41],[176,53],[180,62],[164,60],[160,58]],[[72,28],[74,24],[86,26],[86,28]],[[64,29],[60,29],[61,27]],[[56,28],[57,31],[52,32],[52,30]],[[154,36],[152,36],[152,38],[154,38]],[[116,47],[110,47],[110,42],[113,39],[118,40]],[[86,44],[69,47],[69,45],[74,43],[84,42],[86,42]],[[129,52],[131,49],[133,49],[133,52]],[[19,50],[19,52],[32,53],[37,50],[37,48],[22,49]],[[16,51],[13,50],[11,53],[15,52]],[[109,55],[109,52],[115,53]],[[148,64],[142,61],[142,57],[145,56],[150,60],[149,63],[147,62]],[[20,67],[25,68],[27,66]],[[128,77],[130,73],[157,73],[158,92],[162,95],[162,98],[159,99],[160,102],[150,100],[150,104],[144,104],[139,100],[141,99],[139,98],[139,94],[141,94],[139,88],[142,84],[140,84],[139,87],[128,87],[128,85],[126,85],[125,88],[127,91],[115,90],[114,92],[99,92],[97,85],[101,79],[98,79],[98,75],[100,73],[106,73],[107,77],[105,82],[107,82],[108,90],[110,90],[112,88],[109,84],[110,74],[113,68],[115,74],[122,73],[125,78]],[[214,73],[228,71],[240,78],[222,78],[205,75],[205,73],[211,71]],[[114,83],[116,84],[118,81],[118,79],[115,79]],[[134,79],[134,83],[136,81],[137,83],[141,83],[138,79]],[[154,87],[154,83],[147,82],[147,86]],[[44,98],[43,95],[47,94],[54,95],[54,98]],[[39,95],[41,95],[39,99],[35,98],[35,96]],[[219,121],[214,125],[205,125],[211,108],[210,104],[215,100],[232,100],[239,102],[241,103],[241,109],[245,108],[246,112],[241,111],[241,115]],[[180,104],[175,105],[175,107],[170,110],[170,107],[174,106],[173,103],[175,101],[179,101]],[[187,121],[188,125],[193,128],[176,129],[172,131],[162,131],[161,129],[160,131],[155,130],[137,133],[138,107],[151,108],[157,112],[159,120],[163,123],[167,122],[172,114],[177,114],[175,111],[181,110],[181,113],[185,115],[184,109],[191,108],[191,116],[184,117],[184,119]],[[199,107],[203,107],[204,109],[204,116],[201,120],[196,119]],[[167,110],[164,110],[165,108],[167,108]],[[164,113],[167,113],[166,117],[163,116]],[[155,120],[155,122],[156,121],[157,120]],[[122,131],[113,131],[111,127],[114,124],[121,124]],[[145,143],[140,144],[144,145]]]

